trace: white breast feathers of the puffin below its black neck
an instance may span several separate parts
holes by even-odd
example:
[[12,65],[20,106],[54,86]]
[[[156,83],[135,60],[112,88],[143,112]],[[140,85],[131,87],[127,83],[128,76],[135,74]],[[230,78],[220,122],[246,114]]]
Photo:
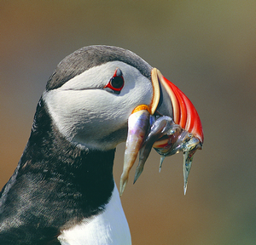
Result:
[[102,214],[84,219],[81,224],[61,231],[62,245],[129,245],[131,234],[116,185]]

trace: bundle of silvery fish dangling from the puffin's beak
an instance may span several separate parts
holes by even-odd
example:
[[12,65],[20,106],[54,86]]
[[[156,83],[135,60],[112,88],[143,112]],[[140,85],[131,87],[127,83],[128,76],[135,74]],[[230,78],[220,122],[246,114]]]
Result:
[[[147,105],[146,105],[147,106]],[[176,124],[172,117],[150,115],[147,108],[128,118],[128,136],[125,145],[124,168],[120,178],[120,196],[125,191],[130,170],[139,154],[133,183],[143,173],[145,162],[154,148],[160,154],[160,169],[166,157],[183,152],[183,191],[187,191],[188,177],[195,151],[202,149],[201,140]]]

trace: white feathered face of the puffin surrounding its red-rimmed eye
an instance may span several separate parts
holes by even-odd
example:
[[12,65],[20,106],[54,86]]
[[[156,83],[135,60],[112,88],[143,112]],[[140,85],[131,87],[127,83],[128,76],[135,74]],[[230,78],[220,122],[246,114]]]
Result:
[[[119,94],[103,89],[119,68],[125,80]],[[127,119],[137,105],[150,105],[152,83],[135,67],[112,61],[95,66],[44,92],[56,127],[75,144],[110,150],[126,140]]]

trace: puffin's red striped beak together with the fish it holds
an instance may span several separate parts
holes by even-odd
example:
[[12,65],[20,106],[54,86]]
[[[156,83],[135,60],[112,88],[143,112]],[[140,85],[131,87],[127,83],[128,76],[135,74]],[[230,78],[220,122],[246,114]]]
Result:
[[119,195],[125,191],[130,170],[140,152],[134,183],[142,174],[152,147],[160,154],[160,168],[167,156],[183,152],[184,194],[195,151],[202,148],[203,130],[195,106],[159,70],[151,71],[153,98],[150,105],[138,105],[128,118],[124,168]]

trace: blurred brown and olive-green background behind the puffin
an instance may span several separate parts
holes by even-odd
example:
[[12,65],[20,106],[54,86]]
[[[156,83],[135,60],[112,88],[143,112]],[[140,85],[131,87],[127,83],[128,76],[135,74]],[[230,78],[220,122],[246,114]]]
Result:
[[[48,77],[92,44],[128,48],[159,68],[192,100],[204,128],[185,197],[181,154],[166,158],[159,174],[152,152],[126,187],[133,244],[256,244],[255,0],[0,1],[1,188]],[[117,182],[123,154],[119,145]]]

